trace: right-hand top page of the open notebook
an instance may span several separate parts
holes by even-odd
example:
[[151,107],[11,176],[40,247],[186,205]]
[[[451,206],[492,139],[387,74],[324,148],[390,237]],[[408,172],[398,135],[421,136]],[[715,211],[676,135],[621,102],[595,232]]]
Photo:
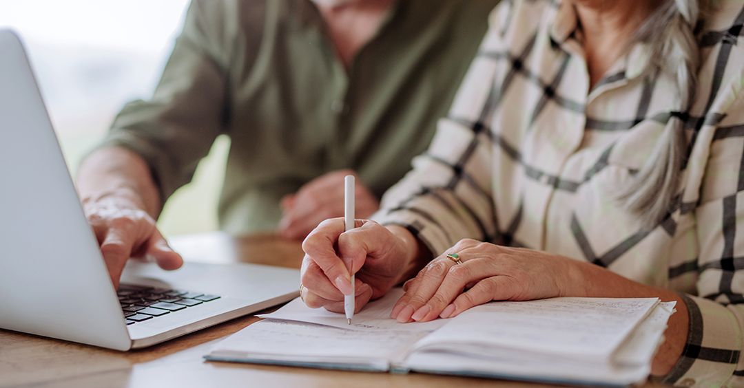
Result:
[[494,302],[460,314],[421,340],[481,343],[553,355],[609,359],[656,298],[553,298]]

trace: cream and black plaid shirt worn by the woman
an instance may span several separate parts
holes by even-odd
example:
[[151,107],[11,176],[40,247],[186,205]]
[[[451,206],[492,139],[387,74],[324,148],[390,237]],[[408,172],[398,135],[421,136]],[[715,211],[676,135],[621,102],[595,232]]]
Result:
[[[460,239],[545,250],[679,291],[690,330],[666,381],[744,385],[744,8],[719,1],[693,106],[635,45],[590,88],[570,4],[503,1],[429,150],[374,219],[432,253]],[[673,211],[652,230],[613,199],[666,126],[690,138]]]

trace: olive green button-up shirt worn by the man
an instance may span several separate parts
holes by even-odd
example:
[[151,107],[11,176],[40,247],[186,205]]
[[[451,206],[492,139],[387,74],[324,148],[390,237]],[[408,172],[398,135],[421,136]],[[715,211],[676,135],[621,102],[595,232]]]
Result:
[[344,68],[309,0],[194,0],[152,99],[127,104],[101,146],[150,165],[161,198],[231,138],[223,230],[274,230],[279,200],[350,168],[378,197],[410,169],[498,0],[400,0]]

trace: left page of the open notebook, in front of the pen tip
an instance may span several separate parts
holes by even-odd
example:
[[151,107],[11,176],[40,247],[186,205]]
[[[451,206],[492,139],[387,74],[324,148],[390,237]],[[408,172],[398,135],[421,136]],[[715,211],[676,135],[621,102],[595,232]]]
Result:
[[[210,360],[293,363],[307,366],[388,370],[424,333],[337,329],[283,320],[263,320],[220,341]],[[284,362],[283,362],[284,361]]]

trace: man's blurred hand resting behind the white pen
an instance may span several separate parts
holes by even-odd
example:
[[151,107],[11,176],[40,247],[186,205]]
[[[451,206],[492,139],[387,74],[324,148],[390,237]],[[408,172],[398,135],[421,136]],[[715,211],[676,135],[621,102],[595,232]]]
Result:
[[[284,215],[279,233],[286,239],[301,240],[324,219],[344,216],[344,176],[349,169],[329,172],[305,184],[295,194],[282,198]],[[356,179],[356,218],[366,219],[379,208],[379,201]]]

